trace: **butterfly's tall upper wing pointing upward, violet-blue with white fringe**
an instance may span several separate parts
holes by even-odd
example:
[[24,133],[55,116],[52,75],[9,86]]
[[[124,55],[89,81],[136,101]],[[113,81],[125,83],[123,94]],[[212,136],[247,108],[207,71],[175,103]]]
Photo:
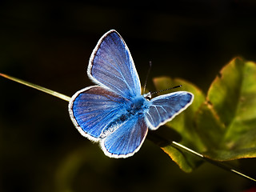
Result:
[[98,41],[90,56],[88,76],[124,98],[141,94],[141,85],[134,61],[126,43],[115,30]]

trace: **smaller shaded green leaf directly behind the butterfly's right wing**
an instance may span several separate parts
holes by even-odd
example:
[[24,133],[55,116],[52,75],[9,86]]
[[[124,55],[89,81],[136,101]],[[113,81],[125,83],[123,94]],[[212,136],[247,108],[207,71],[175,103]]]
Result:
[[[155,132],[155,134],[157,134],[159,138],[162,138],[163,141],[169,140],[169,142],[160,142],[160,144],[159,142],[154,142],[160,145],[162,150],[164,150],[166,154],[168,154],[170,158],[172,158],[182,170],[190,172],[196,166],[198,166],[198,158],[194,158],[194,156],[191,156],[186,152],[184,153],[183,150],[179,150],[171,144],[171,141],[177,141],[193,150],[206,150],[201,139],[198,137],[197,132],[194,130],[194,115],[198,110],[199,106],[202,105],[202,102],[205,101],[205,96],[204,94],[202,94],[202,91],[199,90],[196,86],[194,86],[190,82],[186,82],[178,78],[154,78],[154,85],[157,90],[165,90],[172,86],[182,85],[181,88],[177,88],[177,90],[175,91],[186,90],[194,94],[194,102],[191,104],[191,106],[183,111],[182,114],[178,114],[178,116],[175,117],[171,122],[167,122],[166,126],[168,126],[168,128],[162,126],[157,131],[152,131],[153,134]],[[171,133],[166,134],[166,129],[172,129],[173,135],[171,135]],[[174,131],[176,132],[176,135]],[[179,138],[177,137],[177,134],[179,135]]]

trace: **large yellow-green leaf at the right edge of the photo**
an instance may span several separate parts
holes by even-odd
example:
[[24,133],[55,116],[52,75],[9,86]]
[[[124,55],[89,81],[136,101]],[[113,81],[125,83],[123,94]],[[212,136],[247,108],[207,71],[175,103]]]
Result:
[[198,135],[207,157],[219,160],[256,157],[256,65],[234,58],[212,82],[198,110]]

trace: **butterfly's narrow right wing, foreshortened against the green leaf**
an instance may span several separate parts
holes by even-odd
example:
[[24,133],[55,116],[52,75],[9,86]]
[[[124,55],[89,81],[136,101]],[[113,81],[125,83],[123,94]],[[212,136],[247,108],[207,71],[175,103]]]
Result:
[[194,95],[186,91],[163,94],[150,101],[150,108],[146,112],[146,122],[150,130],[156,130],[177,114],[186,110],[193,102]]

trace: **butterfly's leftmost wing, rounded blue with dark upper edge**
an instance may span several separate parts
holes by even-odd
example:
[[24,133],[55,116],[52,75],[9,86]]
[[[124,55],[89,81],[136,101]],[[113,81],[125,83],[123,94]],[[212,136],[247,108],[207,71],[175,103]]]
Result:
[[104,87],[86,87],[70,99],[70,118],[80,134],[98,141],[104,128],[122,111],[123,102],[124,98]]

